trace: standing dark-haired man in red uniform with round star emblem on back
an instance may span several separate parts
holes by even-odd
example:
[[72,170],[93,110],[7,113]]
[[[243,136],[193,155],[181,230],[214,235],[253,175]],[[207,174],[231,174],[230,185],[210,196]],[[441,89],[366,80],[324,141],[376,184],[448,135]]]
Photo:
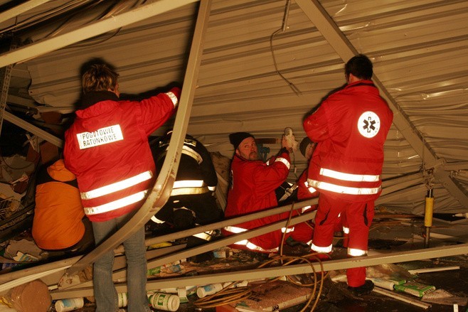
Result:
[[[383,144],[393,113],[371,78],[373,65],[356,55],[345,65],[346,86],[329,95],[304,119],[307,136],[317,142],[308,183],[319,193],[312,249],[331,252],[340,215],[349,226],[349,257],[367,254],[374,201],[381,194]],[[353,294],[372,291],[366,268],[346,270]]]

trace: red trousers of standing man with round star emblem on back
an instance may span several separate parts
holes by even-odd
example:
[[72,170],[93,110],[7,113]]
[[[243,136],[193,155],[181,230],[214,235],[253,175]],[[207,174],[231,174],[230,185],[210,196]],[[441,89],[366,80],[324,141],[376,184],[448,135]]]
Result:
[[[357,250],[367,254],[369,228],[374,215],[374,201],[349,203],[321,193],[319,208],[315,215],[313,244],[317,247],[329,247],[333,242],[336,225],[342,221],[349,227],[348,254]],[[366,268],[358,267],[346,270],[348,285],[358,287],[366,281]]]

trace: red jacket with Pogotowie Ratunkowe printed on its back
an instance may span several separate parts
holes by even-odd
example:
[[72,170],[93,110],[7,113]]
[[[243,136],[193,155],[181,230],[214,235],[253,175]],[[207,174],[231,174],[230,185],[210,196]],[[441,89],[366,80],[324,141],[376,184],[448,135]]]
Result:
[[76,112],[63,153],[92,222],[142,205],[155,176],[148,136],[171,117],[179,95],[173,88],[141,102],[107,99]]

